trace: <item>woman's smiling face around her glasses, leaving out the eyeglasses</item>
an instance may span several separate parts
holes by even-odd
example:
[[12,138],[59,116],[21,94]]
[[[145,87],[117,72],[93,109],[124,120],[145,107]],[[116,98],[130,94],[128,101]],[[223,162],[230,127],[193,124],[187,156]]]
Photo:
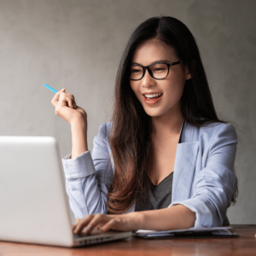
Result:
[[[156,40],[139,46],[132,57],[132,63],[143,66],[156,61],[171,63],[181,60],[177,58],[171,46]],[[146,70],[143,79],[130,80],[130,84],[145,112],[151,117],[158,117],[180,110],[179,100],[183,95],[185,81],[190,78],[187,67],[177,64],[169,67],[166,79],[153,79]],[[154,94],[158,96],[152,98]]]

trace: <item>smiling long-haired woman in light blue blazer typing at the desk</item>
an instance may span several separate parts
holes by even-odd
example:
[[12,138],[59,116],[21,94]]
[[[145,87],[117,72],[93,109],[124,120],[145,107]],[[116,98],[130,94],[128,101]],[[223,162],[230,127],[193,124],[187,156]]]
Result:
[[229,224],[236,131],[218,119],[195,39],[181,21],[151,18],[137,27],[114,100],[113,120],[100,126],[91,155],[84,109],[65,89],[52,100],[72,130],[72,154],[62,162],[74,233]]

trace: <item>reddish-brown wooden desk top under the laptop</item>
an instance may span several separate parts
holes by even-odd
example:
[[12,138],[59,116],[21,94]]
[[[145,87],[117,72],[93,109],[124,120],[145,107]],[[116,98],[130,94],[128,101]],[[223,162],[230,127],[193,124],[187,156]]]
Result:
[[256,225],[232,225],[240,238],[143,240],[128,238],[90,247],[46,247],[0,241],[0,256],[256,255]]

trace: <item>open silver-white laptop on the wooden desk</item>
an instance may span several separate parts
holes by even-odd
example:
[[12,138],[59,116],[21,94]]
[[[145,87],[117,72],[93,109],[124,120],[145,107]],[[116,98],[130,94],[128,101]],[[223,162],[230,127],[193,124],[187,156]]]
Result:
[[77,247],[131,236],[75,236],[55,137],[0,137],[0,240]]

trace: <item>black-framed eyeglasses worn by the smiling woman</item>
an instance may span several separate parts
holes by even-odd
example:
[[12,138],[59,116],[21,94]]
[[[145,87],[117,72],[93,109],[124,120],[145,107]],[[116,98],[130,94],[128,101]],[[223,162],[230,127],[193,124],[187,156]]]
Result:
[[172,63],[153,63],[148,66],[143,66],[140,64],[131,64],[131,72],[129,79],[133,81],[137,81],[140,79],[143,79],[143,76],[146,72],[146,69],[148,70],[149,75],[153,79],[166,79],[166,77],[169,74],[169,67],[173,65],[177,65],[182,63],[183,61],[176,61]]

